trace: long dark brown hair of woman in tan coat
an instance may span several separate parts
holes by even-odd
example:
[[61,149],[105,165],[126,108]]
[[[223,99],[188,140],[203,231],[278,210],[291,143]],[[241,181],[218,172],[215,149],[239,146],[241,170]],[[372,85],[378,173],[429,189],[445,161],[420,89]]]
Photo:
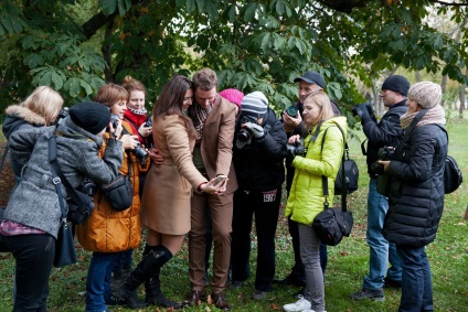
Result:
[[182,111],[183,99],[190,88],[193,89],[192,82],[182,75],[176,75],[166,83],[152,108],[153,122],[157,122],[158,118],[179,115],[185,121],[189,136],[195,136],[196,131],[192,120]]

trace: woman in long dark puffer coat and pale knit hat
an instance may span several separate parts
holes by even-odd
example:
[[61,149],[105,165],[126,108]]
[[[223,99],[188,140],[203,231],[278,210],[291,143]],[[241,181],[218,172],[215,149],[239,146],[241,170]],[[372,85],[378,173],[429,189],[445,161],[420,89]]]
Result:
[[444,209],[448,139],[440,97],[440,86],[430,82],[410,88],[408,111],[400,118],[405,137],[395,149],[396,160],[379,161],[392,181],[383,235],[395,243],[402,262],[398,312],[434,311],[424,249],[435,239]]

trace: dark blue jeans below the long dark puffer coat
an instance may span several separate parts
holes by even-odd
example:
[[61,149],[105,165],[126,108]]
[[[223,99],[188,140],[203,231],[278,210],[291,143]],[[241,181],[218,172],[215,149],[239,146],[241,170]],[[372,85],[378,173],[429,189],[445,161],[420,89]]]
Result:
[[396,246],[402,260],[402,299],[398,312],[434,311],[433,279],[424,247]]

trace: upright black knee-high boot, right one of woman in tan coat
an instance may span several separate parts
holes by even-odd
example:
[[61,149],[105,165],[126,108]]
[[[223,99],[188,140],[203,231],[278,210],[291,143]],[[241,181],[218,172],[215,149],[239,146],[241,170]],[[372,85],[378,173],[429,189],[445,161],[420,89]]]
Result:
[[[172,258],[172,254],[163,246],[158,246],[153,248],[153,250],[155,252],[167,252],[168,261]],[[159,278],[161,267],[155,267],[150,272],[149,278],[145,281],[145,302],[151,305],[156,304],[162,308],[179,309],[181,308],[181,304],[167,299],[161,291],[161,280]]]

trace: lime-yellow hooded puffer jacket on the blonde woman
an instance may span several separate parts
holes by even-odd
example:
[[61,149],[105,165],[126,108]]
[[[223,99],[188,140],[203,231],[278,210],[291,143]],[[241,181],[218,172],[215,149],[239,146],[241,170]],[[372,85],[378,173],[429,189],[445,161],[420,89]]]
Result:
[[[296,172],[289,191],[285,215],[292,220],[310,225],[315,217],[323,211],[323,185],[321,176],[328,177],[328,185],[334,185],[334,179],[340,170],[344,151],[343,135],[347,136],[347,119],[334,117],[311,129],[304,140],[307,148],[306,157],[296,155],[292,161]],[[323,148],[321,146],[325,131]],[[317,136],[312,136],[318,130]],[[313,140],[313,141],[311,141]],[[333,205],[334,187],[329,187],[328,202]]]

